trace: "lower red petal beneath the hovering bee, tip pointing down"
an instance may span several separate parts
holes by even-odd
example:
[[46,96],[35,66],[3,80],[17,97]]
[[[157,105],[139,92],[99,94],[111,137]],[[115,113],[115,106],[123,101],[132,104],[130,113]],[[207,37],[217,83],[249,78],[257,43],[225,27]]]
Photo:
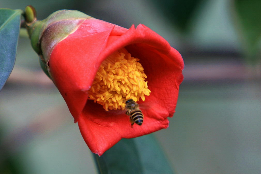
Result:
[[[143,124],[141,126],[135,124],[131,128],[129,116],[125,112],[105,111],[102,105],[88,101],[79,117],[78,125],[91,151],[102,155],[121,138],[134,138],[168,127],[169,121],[162,115],[155,115],[158,114],[155,112],[153,115],[156,117],[150,117],[151,115],[147,115],[145,110],[143,113]],[[167,117],[168,113],[165,115]]]

